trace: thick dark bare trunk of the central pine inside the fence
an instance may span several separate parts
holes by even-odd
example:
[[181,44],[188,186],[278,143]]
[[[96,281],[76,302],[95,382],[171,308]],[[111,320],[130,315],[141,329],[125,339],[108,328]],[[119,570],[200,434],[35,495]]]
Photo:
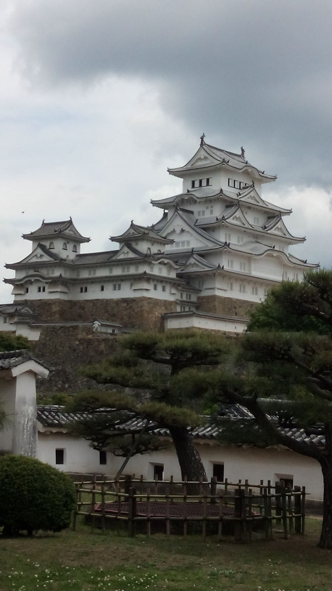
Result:
[[[203,482],[206,482],[205,469],[190,433],[180,427],[169,427],[169,431],[175,445],[177,458],[179,459],[182,480],[186,478],[194,482],[199,482],[202,479]],[[197,492],[198,487],[195,487],[195,492],[193,491],[193,487],[190,487],[190,494],[196,494]]]

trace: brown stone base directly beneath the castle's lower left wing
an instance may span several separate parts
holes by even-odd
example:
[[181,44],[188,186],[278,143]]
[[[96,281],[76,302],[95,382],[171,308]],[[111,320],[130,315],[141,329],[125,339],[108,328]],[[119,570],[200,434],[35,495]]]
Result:
[[137,297],[116,300],[29,300],[37,322],[109,320],[126,328],[162,329],[162,314],[176,311],[175,301]]

